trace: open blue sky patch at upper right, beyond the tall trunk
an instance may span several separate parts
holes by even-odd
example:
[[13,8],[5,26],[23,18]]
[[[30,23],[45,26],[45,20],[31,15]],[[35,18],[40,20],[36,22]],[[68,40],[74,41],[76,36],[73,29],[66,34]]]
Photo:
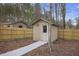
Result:
[[66,4],[66,18],[74,19],[79,16],[79,3],[68,3]]

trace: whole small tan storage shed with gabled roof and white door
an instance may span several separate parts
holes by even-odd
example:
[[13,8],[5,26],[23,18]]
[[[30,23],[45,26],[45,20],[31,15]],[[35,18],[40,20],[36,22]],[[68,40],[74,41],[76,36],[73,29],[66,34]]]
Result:
[[38,19],[33,24],[33,40],[54,41],[57,39],[58,26],[45,19]]

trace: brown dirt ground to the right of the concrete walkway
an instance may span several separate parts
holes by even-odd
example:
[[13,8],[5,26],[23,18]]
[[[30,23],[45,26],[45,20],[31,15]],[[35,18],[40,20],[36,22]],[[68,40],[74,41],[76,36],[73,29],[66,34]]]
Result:
[[48,45],[43,45],[24,56],[79,56],[78,40],[58,39],[52,43],[52,52],[50,54]]

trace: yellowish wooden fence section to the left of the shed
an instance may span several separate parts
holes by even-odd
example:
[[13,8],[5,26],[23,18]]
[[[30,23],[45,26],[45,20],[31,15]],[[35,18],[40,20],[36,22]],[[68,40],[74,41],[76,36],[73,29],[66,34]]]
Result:
[[21,38],[32,38],[32,29],[26,28],[0,28],[0,41]]

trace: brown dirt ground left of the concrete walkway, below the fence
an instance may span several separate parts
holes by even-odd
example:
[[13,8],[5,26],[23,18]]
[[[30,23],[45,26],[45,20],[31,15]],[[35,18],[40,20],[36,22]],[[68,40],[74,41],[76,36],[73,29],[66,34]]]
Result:
[[0,42],[0,54],[5,53],[10,50],[14,50],[26,45],[29,45],[35,41],[31,39],[20,39],[20,40],[12,40],[12,41],[1,41]]

